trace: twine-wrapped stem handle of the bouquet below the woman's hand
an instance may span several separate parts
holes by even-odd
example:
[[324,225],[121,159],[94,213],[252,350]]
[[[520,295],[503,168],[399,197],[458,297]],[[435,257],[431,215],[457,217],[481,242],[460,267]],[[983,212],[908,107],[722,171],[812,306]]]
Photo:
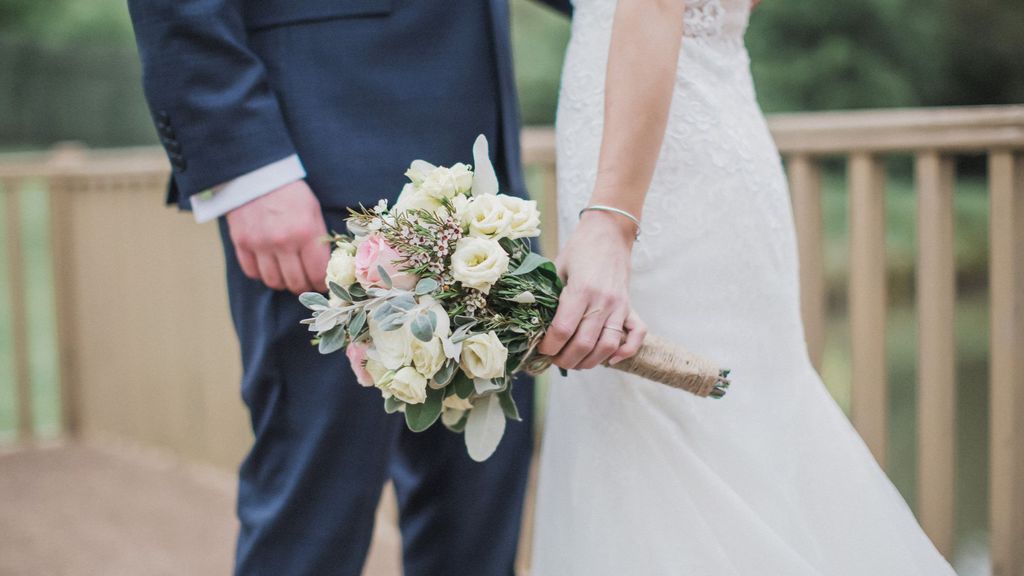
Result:
[[[551,365],[551,358],[536,356],[525,367],[537,374]],[[665,338],[648,334],[632,358],[610,366],[628,374],[686,390],[701,398],[720,399],[729,389],[729,370]]]

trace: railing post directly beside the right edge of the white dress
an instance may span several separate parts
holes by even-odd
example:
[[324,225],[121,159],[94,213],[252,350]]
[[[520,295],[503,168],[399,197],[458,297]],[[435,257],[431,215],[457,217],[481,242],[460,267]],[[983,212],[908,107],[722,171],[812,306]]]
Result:
[[821,170],[807,155],[786,160],[800,251],[800,307],[811,363],[819,372],[825,341],[825,270],[822,254]]

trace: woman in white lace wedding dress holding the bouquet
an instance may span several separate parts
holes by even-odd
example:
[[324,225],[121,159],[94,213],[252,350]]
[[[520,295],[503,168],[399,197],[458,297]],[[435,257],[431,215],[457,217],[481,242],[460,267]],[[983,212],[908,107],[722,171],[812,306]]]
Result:
[[[557,122],[567,286],[541,347],[575,370],[551,387],[540,576],[953,574],[808,360],[750,9],[575,2]],[[599,366],[634,354],[644,322],[731,367],[726,398]]]

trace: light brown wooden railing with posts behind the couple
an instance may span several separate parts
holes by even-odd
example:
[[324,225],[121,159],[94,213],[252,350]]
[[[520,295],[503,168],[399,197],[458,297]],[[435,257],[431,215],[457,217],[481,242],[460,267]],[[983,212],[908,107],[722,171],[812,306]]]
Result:
[[[1024,107],[798,114],[770,119],[785,159],[799,235],[802,312],[812,361],[825,332],[821,161],[847,162],[852,419],[887,464],[886,170],[914,157],[918,193],[918,513],[939,549],[953,546],[955,398],[953,159],[988,158],[990,195],[990,547],[993,573],[1024,574]],[[554,137],[526,129],[524,162],[553,214]],[[31,434],[19,191],[49,190],[65,429],[117,436],[234,465],[248,444],[238,349],[216,232],[160,206],[166,160],[155,150],[0,160],[7,214],[22,433]],[[546,218],[545,249],[556,247]]]

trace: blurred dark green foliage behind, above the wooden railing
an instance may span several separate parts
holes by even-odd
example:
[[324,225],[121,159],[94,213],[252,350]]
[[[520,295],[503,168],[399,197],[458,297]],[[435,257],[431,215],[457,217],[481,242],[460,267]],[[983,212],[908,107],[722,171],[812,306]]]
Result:
[[[512,0],[527,124],[554,119],[567,20]],[[748,45],[767,112],[1024,102],[1020,0],[765,0]],[[155,141],[124,0],[0,0],[0,146]]]

